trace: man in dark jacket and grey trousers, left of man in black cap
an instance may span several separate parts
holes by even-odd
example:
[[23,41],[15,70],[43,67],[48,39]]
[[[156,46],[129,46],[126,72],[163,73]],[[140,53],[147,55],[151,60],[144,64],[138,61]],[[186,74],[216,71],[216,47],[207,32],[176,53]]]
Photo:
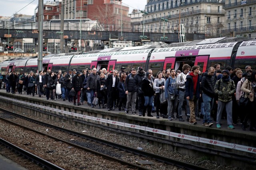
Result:
[[138,113],[135,111],[136,106],[136,99],[137,99],[137,90],[138,86],[136,84],[136,81],[134,80],[134,77],[136,75],[136,69],[132,68],[131,74],[129,74],[126,77],[126,80],[124,82],[124,89],[125,94],[127,95],[127,102],[126,102],[126,110],[125,113],[129,114],[130,109],[130,103],[132,103],[132,114],[137,115]]

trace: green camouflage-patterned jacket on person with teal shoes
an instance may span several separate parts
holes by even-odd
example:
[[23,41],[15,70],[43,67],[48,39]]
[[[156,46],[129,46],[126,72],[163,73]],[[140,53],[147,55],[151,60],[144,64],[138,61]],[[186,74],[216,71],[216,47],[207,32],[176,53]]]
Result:
[[222,102],[230,102],[232,100],[232,94],[236,92],[235,83],[229,78],[227,82],[223,82],[221,78],[214,86],[214,92],[218,94],[218,100]]

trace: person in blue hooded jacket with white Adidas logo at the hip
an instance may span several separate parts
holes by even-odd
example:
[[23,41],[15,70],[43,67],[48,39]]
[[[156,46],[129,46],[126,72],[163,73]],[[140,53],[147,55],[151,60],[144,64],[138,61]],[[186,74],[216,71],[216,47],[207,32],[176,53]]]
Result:
[[178,98],[179,98],[179,92],[178,92],[178,86],[177,86],[177,78],[175,76],[175,70],[172,68],[171,70],[171,76],[166,79],[165,82],[165,98],[168,102],[168,120],[177,119],[174,117],[174,111],[177,107]]

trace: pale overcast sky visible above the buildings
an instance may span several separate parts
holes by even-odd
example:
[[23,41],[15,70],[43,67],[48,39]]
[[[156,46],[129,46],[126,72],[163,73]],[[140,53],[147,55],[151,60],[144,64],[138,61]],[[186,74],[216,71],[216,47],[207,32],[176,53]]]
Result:
[[[124,5],[129,6],[129,13],[131,13],[133,9],[144,10],[147,0],[122,0],[122,2]],[[9,17],[15,13],[34,15],[34,9],[37,4],[38,0],[0,0],[0,16]]]

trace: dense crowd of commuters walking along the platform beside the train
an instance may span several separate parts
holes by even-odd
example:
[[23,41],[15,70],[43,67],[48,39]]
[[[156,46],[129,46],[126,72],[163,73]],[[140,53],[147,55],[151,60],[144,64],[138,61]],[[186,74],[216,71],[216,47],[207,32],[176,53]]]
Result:
[[[252,111],[256,109],[256,70],[250,66],[245,71],[230,66],[220,70],[220,64],[215,64],[202,73],[200,66],[184,64],[181,71],[162,70],[156,77],[151,69],[125,69],[107,72],[106,68],[87,68],[68,73],[47,70],[28,75],[13,71],[4,78],[0,75],[0,79],[7,93],[37,94],[46,96],[46,100],[67,100],[90,107],[96,107],[94,98],[98,98],[98,108],[108,111],[118,109],[143,117],[146,113],[153,117],[151,113],[156,112],[157,119],[186,120],[193,125],[203,119],[202,125],[207,127],[212,127],[214,120],[217,128],[221,128],[221,119],[227,119],[228,129],[240,123],[243,130],[249,127],[256,131]],[[246,106],[240,104],[241,96],[248,98]]]

